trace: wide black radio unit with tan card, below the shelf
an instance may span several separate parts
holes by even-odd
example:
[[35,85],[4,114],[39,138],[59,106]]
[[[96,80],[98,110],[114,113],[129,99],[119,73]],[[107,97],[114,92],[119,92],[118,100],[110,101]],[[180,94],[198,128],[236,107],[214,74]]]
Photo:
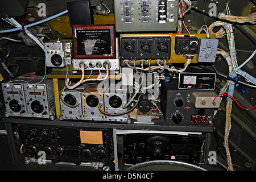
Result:
[[112,136],[112,130],[107,129],[19,125],[24,155],[38,159],[38,152],[44,151],[52,163],[109,162]]

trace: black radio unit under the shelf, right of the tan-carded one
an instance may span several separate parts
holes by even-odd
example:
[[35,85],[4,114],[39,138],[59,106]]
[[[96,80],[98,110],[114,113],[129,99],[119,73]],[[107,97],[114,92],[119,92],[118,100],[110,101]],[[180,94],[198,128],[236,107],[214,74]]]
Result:
[[123,137],[123,163],[151,160],[199,163],[202,135],[126,134]]

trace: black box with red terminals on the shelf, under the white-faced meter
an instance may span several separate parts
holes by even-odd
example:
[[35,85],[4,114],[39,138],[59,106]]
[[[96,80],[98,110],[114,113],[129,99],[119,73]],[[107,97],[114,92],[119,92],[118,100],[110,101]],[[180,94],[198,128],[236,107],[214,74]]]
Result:
[[196,108],[192,103],[193,92],[216,92],[215,90],[179,90],[177,80],[162,82],[161,108],[168,125],[208,125],[214,108]]

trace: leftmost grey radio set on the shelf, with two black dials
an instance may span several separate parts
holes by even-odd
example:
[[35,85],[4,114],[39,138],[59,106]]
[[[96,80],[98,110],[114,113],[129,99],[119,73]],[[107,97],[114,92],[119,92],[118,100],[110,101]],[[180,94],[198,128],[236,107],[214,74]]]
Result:
[[22,76],[2,83],[6,117],[55,119],[53,81],[42,76]]

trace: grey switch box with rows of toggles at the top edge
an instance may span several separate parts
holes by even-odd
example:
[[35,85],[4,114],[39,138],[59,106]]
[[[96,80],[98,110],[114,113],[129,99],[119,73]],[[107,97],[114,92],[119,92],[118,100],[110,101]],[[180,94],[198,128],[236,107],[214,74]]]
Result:
[[176,31],[177,0],[114,0],[115,31]]

